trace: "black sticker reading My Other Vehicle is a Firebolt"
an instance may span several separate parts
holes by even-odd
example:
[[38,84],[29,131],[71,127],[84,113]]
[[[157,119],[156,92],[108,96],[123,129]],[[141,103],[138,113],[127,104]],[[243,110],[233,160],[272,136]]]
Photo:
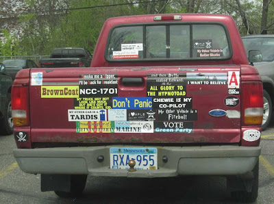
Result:
[[158,110],[159,121],[185,121],[197,119],[198,114],[196,109]]

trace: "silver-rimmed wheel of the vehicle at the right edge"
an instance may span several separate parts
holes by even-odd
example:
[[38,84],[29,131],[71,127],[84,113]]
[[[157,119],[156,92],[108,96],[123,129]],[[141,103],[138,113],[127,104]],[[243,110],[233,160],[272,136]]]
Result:
[[262,117],[262,130],[269,126],[272,117],[272,101],[269,93],[264,90],[264,114]]

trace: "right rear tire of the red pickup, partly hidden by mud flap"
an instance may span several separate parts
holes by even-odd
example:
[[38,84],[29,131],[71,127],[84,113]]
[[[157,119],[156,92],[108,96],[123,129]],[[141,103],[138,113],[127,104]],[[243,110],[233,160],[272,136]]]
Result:
[[247,190],[231,192],[231,196],[235,201],[242,203],[253,203],[254,201],[256,201],[259,189],[259,160],[256,166],[253,168],[252,173],[253,182],[251,192],[247,192]]

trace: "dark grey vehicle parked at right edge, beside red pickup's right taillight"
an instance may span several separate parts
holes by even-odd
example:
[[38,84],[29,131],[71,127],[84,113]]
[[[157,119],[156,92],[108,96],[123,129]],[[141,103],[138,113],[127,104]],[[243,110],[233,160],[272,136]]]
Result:
[[242,37],[247,56],[251,50],[260,50],[262,62],[254,63],[264,87],[264,116],[262,129],[266,129],[273,116],[274,99],[274,35],[250,35]]

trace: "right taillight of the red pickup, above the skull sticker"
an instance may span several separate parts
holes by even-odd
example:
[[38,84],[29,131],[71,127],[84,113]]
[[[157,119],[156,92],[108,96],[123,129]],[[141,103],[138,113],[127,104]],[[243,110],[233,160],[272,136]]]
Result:
[[261,82],[242,82],[242,125],[262,125],[264,102]]

